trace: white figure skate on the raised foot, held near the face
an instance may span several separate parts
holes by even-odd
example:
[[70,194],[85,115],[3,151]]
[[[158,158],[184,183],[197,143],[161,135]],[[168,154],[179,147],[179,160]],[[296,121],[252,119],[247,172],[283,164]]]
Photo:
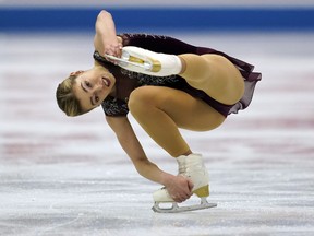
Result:
[[181,60],[176,55],[157,54],[140,47],[125,46],[121,58],[105,55],[106,58],[118,62],[118,66],[137,73],[154,76],[168,76],[181,71]]

